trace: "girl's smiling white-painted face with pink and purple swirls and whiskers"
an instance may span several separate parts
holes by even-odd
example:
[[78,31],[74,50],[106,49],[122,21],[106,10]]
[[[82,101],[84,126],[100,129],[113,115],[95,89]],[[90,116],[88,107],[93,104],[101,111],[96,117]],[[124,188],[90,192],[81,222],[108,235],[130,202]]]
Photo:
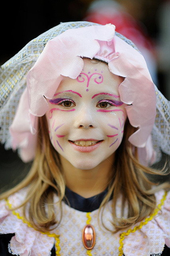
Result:
[[75,168],[90,170],[114,156],[127,115],[118,91],[123,78],[103,62],[83,61],[79,76],[64,77],[47,99],[45,115],[55,150]]

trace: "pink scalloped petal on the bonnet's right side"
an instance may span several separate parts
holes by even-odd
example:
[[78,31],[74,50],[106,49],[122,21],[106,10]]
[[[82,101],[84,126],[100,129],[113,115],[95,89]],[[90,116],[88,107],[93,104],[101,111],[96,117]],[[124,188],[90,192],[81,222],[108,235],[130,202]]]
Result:
[[111,42],[100,42],[100,46],[97,57],[107,60],[113,74],[125,77],[119,86],[120,98],[130,105],[126,107],[130,124],[139,127],[129,141],[136,147],[144,147],[156,116],[154,83],[144,57],[118,36]]

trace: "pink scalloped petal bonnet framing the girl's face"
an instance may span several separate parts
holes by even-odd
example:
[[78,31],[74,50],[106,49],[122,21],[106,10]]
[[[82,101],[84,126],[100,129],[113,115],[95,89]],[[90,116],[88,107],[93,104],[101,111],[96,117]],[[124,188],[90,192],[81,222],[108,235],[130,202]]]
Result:
[[[64,30],[65,23],[59,26]],[[48,42],[44,43],[42,53],[27,74],[27,86],[10,126],[12,147],[20,148],[20,156],[25,162],[34,158],[37,117],[43,116],[48,109],[45,98],[53,97],[62,76],[73,79],[79,76],[83,69],[82,57],[97,58],[107,62],[113,74],[125,78],[119,86],[120,98],[128,104],[130,124],[138,128],[129,141],[138,148],[148,145],[148,160],[154,162],[150,134],[156,117],[156,93],[142,54],[131,41],[115,33],[112,24],[103,26],[88,22],[87,26],[78,28],[67,26],[59,33],[51,40],[47,34],[42,35],[43,43],[45,39]]]

